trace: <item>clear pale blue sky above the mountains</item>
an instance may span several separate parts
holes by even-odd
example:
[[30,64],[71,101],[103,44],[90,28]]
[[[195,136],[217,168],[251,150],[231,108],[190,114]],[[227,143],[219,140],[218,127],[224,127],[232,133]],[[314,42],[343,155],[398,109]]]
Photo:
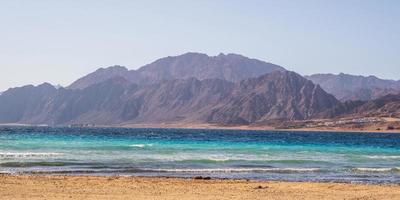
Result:
[[398,0],[0,0],[0,27],[0,91],[186,52],[400,79]]

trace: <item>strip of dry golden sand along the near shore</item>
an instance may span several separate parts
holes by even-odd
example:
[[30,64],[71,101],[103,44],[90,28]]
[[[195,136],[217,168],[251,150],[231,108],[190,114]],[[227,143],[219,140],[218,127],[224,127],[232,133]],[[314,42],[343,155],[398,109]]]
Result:
[[0,175],[0,199],[400,199],[400,185]]

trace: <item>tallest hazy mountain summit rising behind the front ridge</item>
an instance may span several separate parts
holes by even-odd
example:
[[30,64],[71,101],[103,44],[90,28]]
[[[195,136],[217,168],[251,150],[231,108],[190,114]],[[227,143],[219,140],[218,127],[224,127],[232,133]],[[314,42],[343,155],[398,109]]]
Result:
[[186,53],[156,60],[138,70],[121,66],[101,68],[72,83],[69,89],[83,89],[112,77],[124,77],[138,85],[154,84],[173,79],[196,78],[223,79],[231,82],[257,77],[272,71],[283,71],[283,67],[238,54],[208,56],[201,53]]

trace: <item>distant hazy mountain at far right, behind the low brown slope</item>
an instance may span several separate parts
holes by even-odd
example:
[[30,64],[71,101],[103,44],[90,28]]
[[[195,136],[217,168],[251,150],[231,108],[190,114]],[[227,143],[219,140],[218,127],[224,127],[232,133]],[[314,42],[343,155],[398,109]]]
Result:
[[341,101],[367,101],[400,92],[400,81],[384,80],[375,76],[365,77],[341,73],[338,75],[314,74],[306,78]]

